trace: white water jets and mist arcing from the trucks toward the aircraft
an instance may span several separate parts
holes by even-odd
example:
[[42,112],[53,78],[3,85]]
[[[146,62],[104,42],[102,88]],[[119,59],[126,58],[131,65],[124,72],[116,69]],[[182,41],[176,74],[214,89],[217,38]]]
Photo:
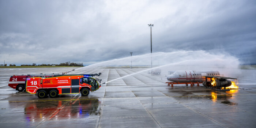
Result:
[[[118,66],[130,66],[131,60],[133,67],[147,65],[151,63],[151,56],[153,59],[153,65],[155,68],[161,68],[162,72],[177,71],[177,70],[210,70],[210,69],[227,69],[238,68],[240,62],[236,57],[229,54],[212,54],[203,50],[198,51],[184,51],[178,50],[173,52],[157,52],[152,54],[142,54],[132,57],[125,57],[121,59],[113,59],[109,61],[92,64],[86,67],[78,68],[76,71],[86,71],[97,67],[118,67]],[[154,69],[154,68],[153,68]],[[138,74],[140,72],[148,71],[151,69],[145,69],[127,76]],[[231,70],[230,70],[231,71]],[[225,72],[229,74],[228,72]],[[117,79],[121,79],[127,76],[123,76]],[[117,80],[114,79],[114,80]],[[109,82],[112,82],[111,80]],[[106,82],[108,83],[108,82]]]

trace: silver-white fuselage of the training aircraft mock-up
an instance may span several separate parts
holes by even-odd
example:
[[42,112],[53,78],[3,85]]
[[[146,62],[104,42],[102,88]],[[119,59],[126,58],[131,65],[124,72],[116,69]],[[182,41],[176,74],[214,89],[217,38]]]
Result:
[[219,71],[175,71],[167,76],[167,80],[172,82],[204,82],[204,76],[220,76]]

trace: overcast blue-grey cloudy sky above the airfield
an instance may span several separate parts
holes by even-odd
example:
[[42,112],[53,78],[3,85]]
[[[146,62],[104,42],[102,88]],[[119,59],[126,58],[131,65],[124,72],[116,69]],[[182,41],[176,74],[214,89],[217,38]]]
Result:
[[0,63],[206,50],[256,63],[255,0],[0,0]]

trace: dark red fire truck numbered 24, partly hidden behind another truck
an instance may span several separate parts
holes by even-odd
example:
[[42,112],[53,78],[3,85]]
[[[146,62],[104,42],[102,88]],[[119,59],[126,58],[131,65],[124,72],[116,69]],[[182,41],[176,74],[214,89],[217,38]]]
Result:
[[11,76],[8,86],[10,86],[13,89],[16,89],[18,91],[23,91],[25,89],[25,82],[27,78],[31,77],[49,77],[54,76],[53,74],[50,75],[13,75]]

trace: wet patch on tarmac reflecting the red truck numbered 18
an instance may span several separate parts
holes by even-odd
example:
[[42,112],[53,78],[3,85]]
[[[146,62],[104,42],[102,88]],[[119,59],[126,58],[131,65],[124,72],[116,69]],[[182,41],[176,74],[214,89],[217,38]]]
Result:
[[26,104],[24,114],[27,121],[88,118],[100,115],[99,104],[98,99],[35,101]]

